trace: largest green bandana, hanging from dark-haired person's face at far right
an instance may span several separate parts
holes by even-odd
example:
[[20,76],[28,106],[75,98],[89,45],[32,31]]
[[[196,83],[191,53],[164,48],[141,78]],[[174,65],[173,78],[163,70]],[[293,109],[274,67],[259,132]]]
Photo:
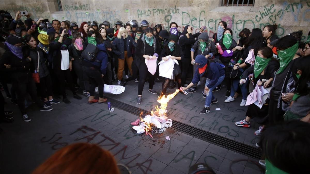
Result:
[[297,50],[298,50],[298,42],[288,49],[277,51],[279,59],[280,59],[280,68],[279,68],[277,74],[280,74],[281,72],[283,72],[285,70],[286,66],[293,59]]

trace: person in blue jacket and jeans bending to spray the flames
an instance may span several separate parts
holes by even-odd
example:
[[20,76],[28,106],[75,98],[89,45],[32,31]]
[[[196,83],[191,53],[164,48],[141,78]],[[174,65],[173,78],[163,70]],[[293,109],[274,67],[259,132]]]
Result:
[[200,114],[206,114],[210,112],[210,105],[218,102],[212,94],[212,90],[222,83],[225,78],[225,71],[219,63],[212,60],[207,60],[204,55],[198,54],[195,61],[197,67],[193,80],[186,88],[184,88],[184,90],[187,90],[194,84],[198,83],[200,77],[206,77],[206,86],[204,89],[206,94],[206,102],[205,107],[202,111],[200,111]]

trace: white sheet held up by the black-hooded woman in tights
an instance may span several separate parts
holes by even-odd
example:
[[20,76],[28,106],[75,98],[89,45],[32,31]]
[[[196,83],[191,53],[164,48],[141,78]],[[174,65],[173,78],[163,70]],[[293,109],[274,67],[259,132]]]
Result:
[[177,60],[171,59],[170,57],[171,55],[169,55],[169,58],[167,61],[162,60],[158,63],[159,76],[166,77],[168,79],[172,79],[174,64],[175,63],[179,64]]

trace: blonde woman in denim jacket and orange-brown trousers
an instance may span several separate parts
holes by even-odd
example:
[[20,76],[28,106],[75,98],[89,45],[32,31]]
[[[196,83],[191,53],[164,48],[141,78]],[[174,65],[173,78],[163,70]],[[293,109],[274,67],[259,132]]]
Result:
[[117,85],[121,85],[125,61],[128,65],[129,72],[132,75],[131,63],[133,59],[131,50],[132,46],[136,46],[136,43],[132,37],[128,37],[126,29],[121,27],[117,33],[117,38],[115,38],[112,44],[116,47],[114,52],[118,53]]

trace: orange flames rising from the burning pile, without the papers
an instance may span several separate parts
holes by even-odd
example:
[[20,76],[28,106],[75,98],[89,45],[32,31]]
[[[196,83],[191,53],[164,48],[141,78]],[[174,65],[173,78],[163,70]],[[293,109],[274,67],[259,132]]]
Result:
[[[155,110],[156,111],[151,111],[151,116],[158,116],[158,117],[161,117],[161,116],[164,116],[167,118],[167,106],[168,106],[168,102],[175,97],[176,94],[178,94],[180,90],[179,89],[176,89],[174,93],[172,94],[169,94],[167,96],[165,95],[162,95],[162,96],[159,96],[158,99],[157,99],[157,102],[160,103],[160,107],[158,107],[158,105],[155,106]],[[144,122],[143,118],[141,117],[143,115],[143,112],[141,111],[140,113],[140,120],[141,122]],[[149,124],[147,122],[144,122],[145,123],[145,135],[149,135],[150,137],[153,138],[152,134],[151,134],[151,131],[152,131],[152,124]]]

